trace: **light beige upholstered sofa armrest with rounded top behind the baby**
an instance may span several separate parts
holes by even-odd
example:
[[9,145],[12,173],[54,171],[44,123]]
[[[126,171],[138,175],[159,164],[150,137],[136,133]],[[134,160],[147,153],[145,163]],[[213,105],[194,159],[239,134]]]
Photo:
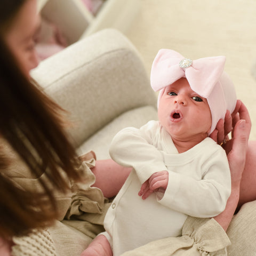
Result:
[[156,106],[138,52],[114,29],[86,37],[42,61],[31,76],[70,113],[75,146],[127,110]]

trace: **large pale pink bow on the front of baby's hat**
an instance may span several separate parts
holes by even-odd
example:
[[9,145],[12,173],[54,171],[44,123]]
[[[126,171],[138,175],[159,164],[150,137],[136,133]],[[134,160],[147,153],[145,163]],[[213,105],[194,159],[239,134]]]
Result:
[[186,77],[193,91],[207,98],[213,87],[218,83],[223,73],[226,57],[207,57],[193,60],[191,66],[180,67],[180,61],[185,59],[173,50],[158,51],[151,68],[151,86],[154,91],[174,83],[181,77]]

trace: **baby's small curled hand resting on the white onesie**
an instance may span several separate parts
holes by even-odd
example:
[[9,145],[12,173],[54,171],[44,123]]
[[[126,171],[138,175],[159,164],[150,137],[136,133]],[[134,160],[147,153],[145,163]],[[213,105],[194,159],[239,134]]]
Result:
[[167,171],[156,172],[146,180],[140,188],[139,196],[142,196],[142,199],[146,199],[154,191],[161,189],[161,192],[164,193],[168,185],[169,174]]

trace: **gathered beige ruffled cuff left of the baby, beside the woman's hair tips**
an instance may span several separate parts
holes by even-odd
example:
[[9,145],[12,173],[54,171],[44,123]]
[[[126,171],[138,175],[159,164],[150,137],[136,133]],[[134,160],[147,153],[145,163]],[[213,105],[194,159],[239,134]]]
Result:
[[90,151],[81,158],[83,165],[79,171],[84,179],[81,182],[72,183],[73,195],[62,223],[93,239],[104,231],[103,220],[111,203],[104,198],[100,189],[91,187],[95,182],[95,176],[90,170],[95,166],[94,152]]

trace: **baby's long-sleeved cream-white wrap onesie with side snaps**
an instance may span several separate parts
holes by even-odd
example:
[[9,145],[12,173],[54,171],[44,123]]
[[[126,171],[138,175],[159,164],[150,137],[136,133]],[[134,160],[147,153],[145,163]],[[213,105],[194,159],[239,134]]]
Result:
[[[179,154],[158,121],[140,129],[128,127],[111,142],[110,156],[133,171],[111,204],[104,221],[114,256],[170,236],[180,236],[187,215],[211,218],[221,213],[231,192],[225,150],[211,138]],[[141,185],[153,173],[167,170],[162,199],[142,200]]]

